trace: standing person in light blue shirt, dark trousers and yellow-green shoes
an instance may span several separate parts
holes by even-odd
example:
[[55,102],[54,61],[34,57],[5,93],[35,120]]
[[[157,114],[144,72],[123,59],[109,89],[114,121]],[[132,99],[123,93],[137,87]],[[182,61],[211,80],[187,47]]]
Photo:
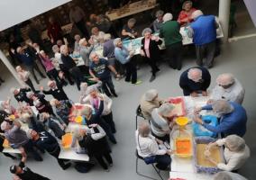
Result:
[[121,38],[114,39],[114,56],[123,64],[126,70],[125,81],[130,82],[132,78],[133,85],[140,85],[142,81],[137,80],[136,62],[133,59],[134,52],[129,51],[123,46]]

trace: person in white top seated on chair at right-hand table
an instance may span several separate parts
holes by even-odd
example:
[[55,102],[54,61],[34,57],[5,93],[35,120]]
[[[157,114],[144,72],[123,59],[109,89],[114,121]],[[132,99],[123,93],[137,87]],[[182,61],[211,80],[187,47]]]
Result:
[[163,142],[151,135],[149,123],[142,122],[139,125],[139,129],[135,131],[135,138],[138,155],[144,159],[145,163],[157,163],[156,166],[160,170],[169,171],[172,151],[160,149],[159,144]]

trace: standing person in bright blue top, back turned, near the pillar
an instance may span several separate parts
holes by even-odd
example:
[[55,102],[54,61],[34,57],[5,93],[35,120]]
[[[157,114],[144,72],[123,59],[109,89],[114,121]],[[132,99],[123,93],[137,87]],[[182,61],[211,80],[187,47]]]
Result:
[[[207,68],[213,67],[215,59],[216,28],[214,15],[204,15],[200,10],[195,11],[191,18],[194,20],[190,23],[187,30],[188,36],[193,37],[196,45],[197,65]],[[206,57],[206,61],[203,59]]]

